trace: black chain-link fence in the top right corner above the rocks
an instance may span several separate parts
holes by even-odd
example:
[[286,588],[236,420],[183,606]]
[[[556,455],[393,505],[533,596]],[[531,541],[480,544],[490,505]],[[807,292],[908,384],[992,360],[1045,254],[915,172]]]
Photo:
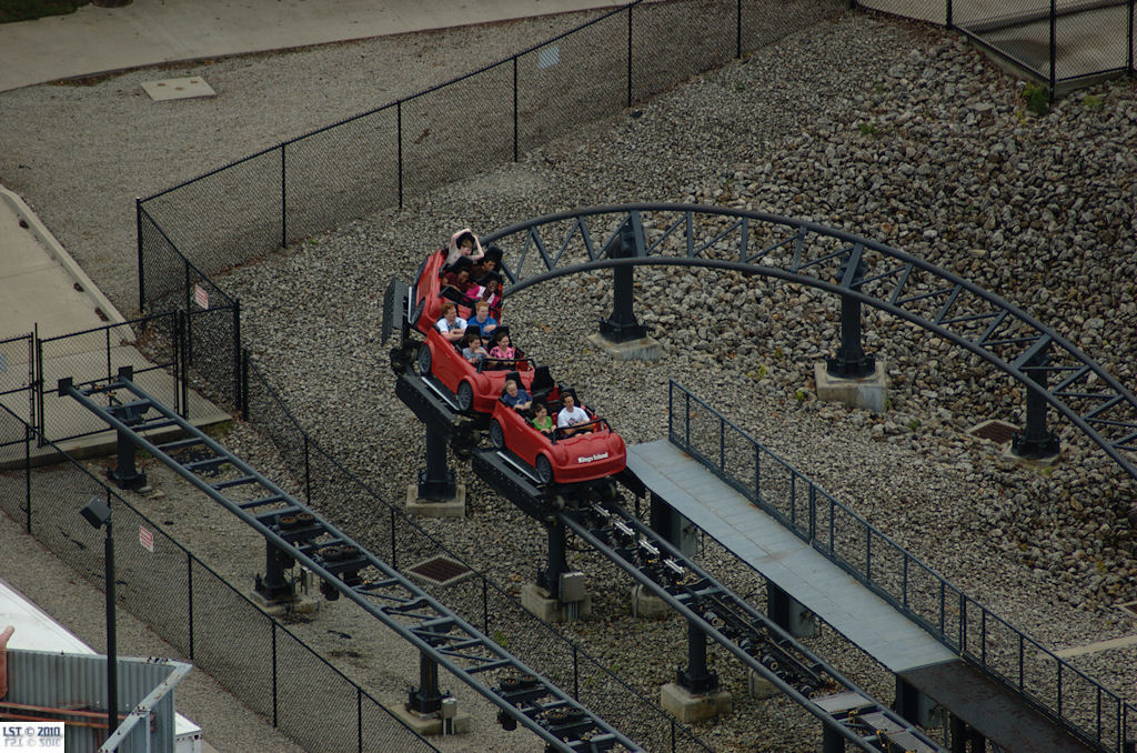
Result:
[[1047,83],[1132,75],[1135,0],[857,0],[955,28]]

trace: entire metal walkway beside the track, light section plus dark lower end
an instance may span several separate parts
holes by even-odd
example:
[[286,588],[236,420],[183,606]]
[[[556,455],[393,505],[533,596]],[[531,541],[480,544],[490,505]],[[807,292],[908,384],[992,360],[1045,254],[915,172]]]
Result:
[[677,512],[987,739],[1012,752],[1094,750],[961,660],[671,441],[629,447],[628,470]]

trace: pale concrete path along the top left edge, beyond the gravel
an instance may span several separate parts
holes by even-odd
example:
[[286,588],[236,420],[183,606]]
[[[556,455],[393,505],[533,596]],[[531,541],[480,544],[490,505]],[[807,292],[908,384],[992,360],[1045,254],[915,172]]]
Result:
[[[0,91],[175,60],[623,5],[612,0],[134,0],[0,24]],[[159,76],[160,77],[160,76]]]

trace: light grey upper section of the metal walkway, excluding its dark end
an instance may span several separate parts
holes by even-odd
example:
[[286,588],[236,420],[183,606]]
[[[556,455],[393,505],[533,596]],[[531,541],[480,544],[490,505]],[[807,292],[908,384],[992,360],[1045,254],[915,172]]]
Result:
[[679,514],[889,671],[957,661],[923,628],[666,439],[629,447],[628,467]]

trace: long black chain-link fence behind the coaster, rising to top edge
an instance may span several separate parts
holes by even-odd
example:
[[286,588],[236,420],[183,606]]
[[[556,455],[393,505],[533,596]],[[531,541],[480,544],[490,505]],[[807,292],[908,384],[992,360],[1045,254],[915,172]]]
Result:
[[206,275],[516,160],[847,7],[847,0],[636,0],[438,86],[138,199],[139,308],[189,304],[193,286],[213,295]]

